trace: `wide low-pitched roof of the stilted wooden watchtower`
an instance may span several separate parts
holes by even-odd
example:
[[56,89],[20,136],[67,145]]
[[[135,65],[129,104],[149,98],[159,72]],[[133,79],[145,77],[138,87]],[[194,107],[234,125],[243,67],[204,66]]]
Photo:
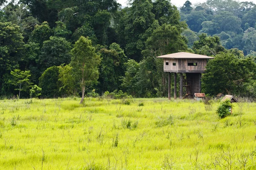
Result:
[[213,57],[208,57],[199,54],[192,54],[186,52],[179,52],[173,54],[166,54],[163,56],[158,56],[157,58],[167,58],[167,59],[214,59]]

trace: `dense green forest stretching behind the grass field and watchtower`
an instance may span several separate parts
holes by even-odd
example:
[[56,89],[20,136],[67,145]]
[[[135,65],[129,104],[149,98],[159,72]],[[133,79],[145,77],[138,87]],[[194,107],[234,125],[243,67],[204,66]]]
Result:
[[[157,56],[215,57],[202,91],[256,97],[256,5],[236,0],[0,0],[0,98],[167,96]],[[173,82],[172,82],[173,87]]]

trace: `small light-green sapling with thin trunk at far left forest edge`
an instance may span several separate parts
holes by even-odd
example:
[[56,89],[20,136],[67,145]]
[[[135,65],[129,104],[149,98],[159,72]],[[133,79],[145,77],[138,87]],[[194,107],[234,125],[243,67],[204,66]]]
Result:
[[9,82],[10,84],[18,87],[15,88],[15,90],[19,91],[18,99],[20,99],[20,91],[27,91],[31,85],[29,81],[29,77],[31,76],[30,71],[15,69],[14,71],[11,71],[11,75],[12,79],[10,79]]

